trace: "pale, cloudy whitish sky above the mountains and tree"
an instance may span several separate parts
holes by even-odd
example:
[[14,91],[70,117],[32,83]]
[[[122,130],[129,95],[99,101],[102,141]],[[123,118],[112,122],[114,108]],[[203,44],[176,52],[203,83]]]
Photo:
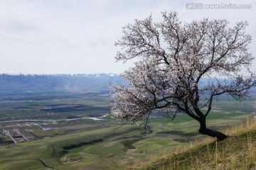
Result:
[[[191,4],[203,8],[191,8]],[[207,4],[250,4],[252,8],[206,8]],[[150,14],[177,11],[186,23],[248,21],[250,52],[256,55],[256,1],[175,0],[0,0],[0,73],[97,74],[124,72],[132,62],[115,62],[122,27]],[[252,70],[256,72],[256,62]]]

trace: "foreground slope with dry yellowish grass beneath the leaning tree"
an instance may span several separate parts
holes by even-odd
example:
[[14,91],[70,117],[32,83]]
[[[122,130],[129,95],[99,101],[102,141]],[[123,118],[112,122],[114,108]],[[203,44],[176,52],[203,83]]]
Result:
[[256,169],[256,123],[247,120],[226,130],[228,139],[206,139],[152,160],[140,169]]

